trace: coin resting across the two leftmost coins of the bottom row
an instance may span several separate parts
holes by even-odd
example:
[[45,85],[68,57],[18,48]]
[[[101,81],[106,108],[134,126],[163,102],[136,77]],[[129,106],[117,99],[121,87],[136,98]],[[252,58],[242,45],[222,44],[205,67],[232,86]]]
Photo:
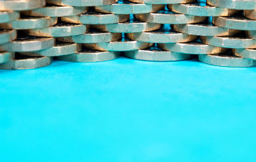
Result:
[[56,41],[54,47],[47,48],[45,50],[38,50],[35,52],[23,52],[22,55],[30,56],[60,56],[74,54],[81,50],[82,44],[77,43],[64,43]]

